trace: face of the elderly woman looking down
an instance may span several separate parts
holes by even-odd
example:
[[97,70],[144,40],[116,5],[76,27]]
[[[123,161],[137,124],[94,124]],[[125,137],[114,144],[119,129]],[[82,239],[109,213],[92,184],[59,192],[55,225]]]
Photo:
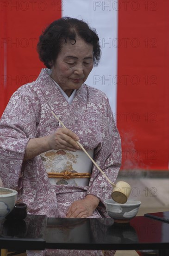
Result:
[[74,45],[70,40],[63,43],[61,52],[52,67],[51,77],[70,96],[74,89],[79,89],[86,81],[92,68],[93,45],[77,37]]

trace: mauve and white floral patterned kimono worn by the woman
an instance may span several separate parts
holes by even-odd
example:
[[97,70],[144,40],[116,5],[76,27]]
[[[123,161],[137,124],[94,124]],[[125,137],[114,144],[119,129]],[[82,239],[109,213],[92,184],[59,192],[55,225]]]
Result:
[[[93,150],[94,161],[112,182],[116,181],[121,164],[121,141],[107,96],[96,88],[82,84],[69,104],[46,69],[42,69],[36,81],[25,84],[13,94],[2,115],[0,177],[3,186],[18,190],[18,200],[27,204],[29,214],[65,217],[72,202],[92,194],[100,199],[100,203],[90,217],[108,217],[104,201],[111,197],[112,186],[94,165],[91,165],[91,177],[84,186],[78,182],[65,183],[63,179],[53,185],[43,154],[33,157],[32,152],[32,158],[23,161],[31,138],[50,135],[62,127],[52,111],[79,136],[86,150]],[[63,150],[56,155],[66,153]],[[47,156],[52,154],[47,152]],[[67,167],[71,171],[68,160],[74,159],[74,156],[69,155],[66,155]],[[49,254],[36,251],[28,255],[99,256],[102,252],[52,250]],[[113,255],[113,251],[107,251],[105,255]]]

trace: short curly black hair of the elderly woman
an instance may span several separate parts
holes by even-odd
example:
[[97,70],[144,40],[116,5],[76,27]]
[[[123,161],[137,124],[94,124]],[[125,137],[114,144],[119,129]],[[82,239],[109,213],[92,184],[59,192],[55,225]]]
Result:
[[95,29],[90,28],[83,20],[70,17],[55,20],[42,31],[37,45],[39,59],[47,68],[51,68],[62,49],[63,40],[65,43],[68,39],[73,40],[73,44],[75,44],[76,36],[93,45],[94,66],[97,66],[100,61],[101,50]]

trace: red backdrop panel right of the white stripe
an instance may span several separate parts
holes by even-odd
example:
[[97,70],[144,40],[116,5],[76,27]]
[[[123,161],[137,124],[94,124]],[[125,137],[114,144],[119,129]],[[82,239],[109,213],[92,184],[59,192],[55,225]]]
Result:
[[169,1],[119,1],[117,120],[122,168],[169,164]]

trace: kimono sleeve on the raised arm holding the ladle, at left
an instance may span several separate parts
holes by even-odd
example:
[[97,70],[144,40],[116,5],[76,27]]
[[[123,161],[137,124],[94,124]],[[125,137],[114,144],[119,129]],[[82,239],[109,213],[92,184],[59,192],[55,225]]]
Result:
[[27,84],[13,94],[1,117],[0,178],[4,187],[22,188],[25,149],[36,136],[38,113],[38,99]]

